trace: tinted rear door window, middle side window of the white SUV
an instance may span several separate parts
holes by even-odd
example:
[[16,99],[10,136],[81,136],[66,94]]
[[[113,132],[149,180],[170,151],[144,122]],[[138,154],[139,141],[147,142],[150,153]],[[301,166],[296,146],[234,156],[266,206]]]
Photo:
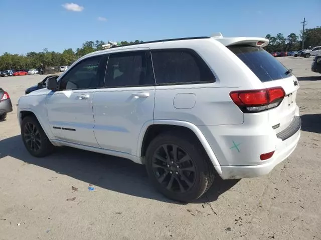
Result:
[[154,84],[149,52],[134,51],[110,54],[105,86],[138,86]]

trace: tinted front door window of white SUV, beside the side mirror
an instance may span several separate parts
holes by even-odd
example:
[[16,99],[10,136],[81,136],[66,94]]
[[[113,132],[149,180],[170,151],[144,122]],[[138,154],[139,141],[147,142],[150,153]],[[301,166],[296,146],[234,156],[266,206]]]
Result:
[[[103,86],[103,58],[104,56],[101,55],[86,58],[72,67],[61,79],[60,89],[83,89]],[[101,72],[103,72],[103,74],[101,74]]]

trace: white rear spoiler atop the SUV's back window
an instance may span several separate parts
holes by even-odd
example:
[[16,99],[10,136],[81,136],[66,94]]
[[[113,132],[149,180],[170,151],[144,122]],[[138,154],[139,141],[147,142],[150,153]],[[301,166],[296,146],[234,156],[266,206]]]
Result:
[[230,45],[250,45],[264,47],[269,44],[269,40],[263,37],[212,37],[225,46]]

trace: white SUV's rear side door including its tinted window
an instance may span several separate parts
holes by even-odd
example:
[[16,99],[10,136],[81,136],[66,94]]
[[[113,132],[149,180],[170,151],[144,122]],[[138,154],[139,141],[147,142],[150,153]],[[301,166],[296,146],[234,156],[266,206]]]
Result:
[[154,83],[146,48],[109,54],[105,88],[97,89],[93,99],[100,147],[136,155],[140,130],[153,120]]

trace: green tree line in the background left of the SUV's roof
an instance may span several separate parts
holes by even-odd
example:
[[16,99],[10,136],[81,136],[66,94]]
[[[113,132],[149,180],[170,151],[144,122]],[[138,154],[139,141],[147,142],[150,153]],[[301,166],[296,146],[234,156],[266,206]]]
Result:
[[[139,42],[142,41],[120,41],[118,44],[127,45]],[[44,66],[70,65],[83,55],[93,51],[101,50],[103,44],[106,44],[106,42],[102,40],[85,41],[82,44],[82,47],[79,47],[76,50],[68,48],[63,52],[49,51],[48,48],[44,48],[43,51],[40,52],[31,51],[26,55],[5,52],[0,56],[0,70],[38,68],[41,66],[41,63]]]

